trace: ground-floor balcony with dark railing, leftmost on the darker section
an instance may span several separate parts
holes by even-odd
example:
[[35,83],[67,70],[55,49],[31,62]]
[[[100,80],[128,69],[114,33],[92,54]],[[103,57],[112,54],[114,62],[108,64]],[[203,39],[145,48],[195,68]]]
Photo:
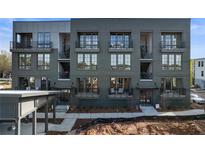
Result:
[[75,88],[75,96],[79,99],[97,99],[100,90],[99,88]]

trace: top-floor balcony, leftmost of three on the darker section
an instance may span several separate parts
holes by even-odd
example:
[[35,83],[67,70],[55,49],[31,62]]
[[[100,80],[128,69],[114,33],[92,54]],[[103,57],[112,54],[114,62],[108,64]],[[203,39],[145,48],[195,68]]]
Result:
[[75,51],[76,52],[100,52],[99,42],[96,44],[88,44],[85,42],[76,41],[75,43]]

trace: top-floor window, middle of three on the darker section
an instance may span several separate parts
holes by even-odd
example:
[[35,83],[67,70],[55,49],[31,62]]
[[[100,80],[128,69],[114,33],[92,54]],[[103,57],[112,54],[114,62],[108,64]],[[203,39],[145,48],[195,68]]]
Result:
[[111,48],[129,48],[130,47],[131,33],[118,32],[110,34],[110,47]]

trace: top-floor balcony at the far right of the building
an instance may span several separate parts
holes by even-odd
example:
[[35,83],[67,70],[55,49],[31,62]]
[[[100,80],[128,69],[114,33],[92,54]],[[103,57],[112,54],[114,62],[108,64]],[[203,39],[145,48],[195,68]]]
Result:
[[185,43],[178,41],[175,44],[160,42],[161,52],[184,52]]

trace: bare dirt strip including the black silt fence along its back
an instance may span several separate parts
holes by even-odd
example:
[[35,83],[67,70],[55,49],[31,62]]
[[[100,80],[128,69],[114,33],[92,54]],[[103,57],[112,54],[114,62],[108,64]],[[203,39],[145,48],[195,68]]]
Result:
[[78,119],[73,130],[78,135],[201,135],[205,134],[205,115]]

